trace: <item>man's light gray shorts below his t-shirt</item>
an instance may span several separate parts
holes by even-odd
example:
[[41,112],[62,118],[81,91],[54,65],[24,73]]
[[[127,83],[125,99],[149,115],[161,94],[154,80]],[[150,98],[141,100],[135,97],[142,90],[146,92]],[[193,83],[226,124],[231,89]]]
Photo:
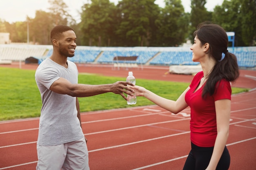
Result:
[[90,170],[88,149],[80,140],[54,146],[37,145],[36,170]]

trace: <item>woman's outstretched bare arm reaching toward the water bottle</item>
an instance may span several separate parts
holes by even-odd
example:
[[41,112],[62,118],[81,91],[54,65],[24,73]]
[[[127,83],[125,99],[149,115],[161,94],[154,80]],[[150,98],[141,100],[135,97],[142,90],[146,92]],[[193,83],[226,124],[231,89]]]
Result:
[[146,97],[151,102],[157,104],[158,106],[160,106],[172,113],[177,114],[180,111],[184,110],[186,107],[188,107],[188,105],[185,102],[185,94],[189,90],[190,87],[188,87],[176,101],[169,100],[169,99],[166,99],[159,95],[156,95],[155,93],[153,93],[141,86],[133,86],[132,88],[135,89],[136,96]]

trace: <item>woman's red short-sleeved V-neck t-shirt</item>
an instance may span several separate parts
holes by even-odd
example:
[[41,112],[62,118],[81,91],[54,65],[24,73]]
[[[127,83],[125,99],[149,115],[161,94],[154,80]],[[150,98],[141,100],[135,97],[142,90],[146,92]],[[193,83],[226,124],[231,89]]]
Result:
[[212,96],[202,98],[202,89],[195,89],[200,84],[203,72],[199,72],[193,78],[190,89],[185,95],[185,101],[191,108],[191,142],[200,147],[213,147],[217,136],[215,101],[220,99],[231,100],[231,85],[225,79],[216,84],[215,93]]

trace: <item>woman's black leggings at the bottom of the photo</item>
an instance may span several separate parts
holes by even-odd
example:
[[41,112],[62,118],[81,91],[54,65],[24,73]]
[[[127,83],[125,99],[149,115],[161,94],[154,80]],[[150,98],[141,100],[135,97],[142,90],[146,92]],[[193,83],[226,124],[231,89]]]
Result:
[[[191,143],[191,151],[186,159],[183,170],[205,170],[209,165],[213,147],[199,147]],[[216,170],[228,170],[230,165],[230,155],[225,146]]]

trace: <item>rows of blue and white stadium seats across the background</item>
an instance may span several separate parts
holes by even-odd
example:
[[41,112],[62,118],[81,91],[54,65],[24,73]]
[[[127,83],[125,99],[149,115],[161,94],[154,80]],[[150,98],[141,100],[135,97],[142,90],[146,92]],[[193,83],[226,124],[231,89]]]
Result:
[[[256,47],[229,47],[241,68],[256,69]],[[0,44],[0,60],[25,61],[28,57],[38,59],[38,64],[52,55],[51,45]],[[132,57],[136,60],[114,61],[114,57]],[[198,65],[192,62],[192,52],[186,47],[89,47],[77,46],[75,56],[68,60],[76,63],[112,64],[113,66],[137,67],[151,65]],[[122,64],[123,63],[123,64]],[[115,64],[115,65],[114,65]]]

